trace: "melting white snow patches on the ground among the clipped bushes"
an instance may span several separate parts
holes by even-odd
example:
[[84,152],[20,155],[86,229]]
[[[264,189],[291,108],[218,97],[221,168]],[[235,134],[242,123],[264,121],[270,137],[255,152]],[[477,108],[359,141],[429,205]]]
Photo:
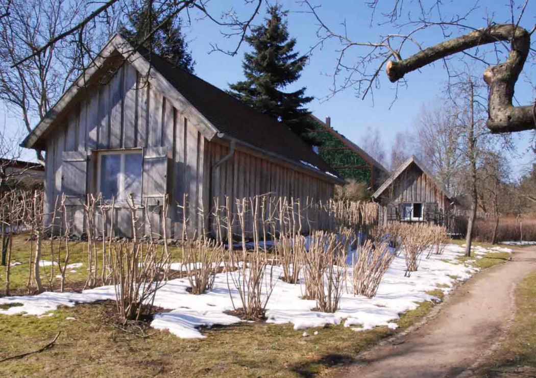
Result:
[[[490,252],[511,252],[511,250],[500,247],[494,247],[493,250],[475,247],[474,252],[479,256]],[[423,257],[419,270],[413,272],[410,277],[404,277],[406,264],[403,254],[400,254],[386,271],[376,297],[368,299],[345,292],[340,300],[340,309],[333,314],[313,311],[316,307],[315,301],[301,299],[302,285],[288,284],[277,279],[274,281],[276,285],[267,305],[267,322],[292,323],[294,329],[340,323],[355,330],[376,326],[393,328],[396,326],[394,321],[398,319],[399,313],[415,309],[421,301],[434,299],[426,293],[427,291],[437,289],[437,285],[451,286],[455,281],[464,281],[478,271],[477,268],[456,260],[463,253],[463,247],[450,244],[445,247],[442,255],[431,255],[430,259]],[[426,251],[423,253],[423,256],[425,255]],[[174,268],[182,270],[184,267],[176,264]],[[352,290],[351,274],[352,269],[349,268],[348,291]],[[274,277],[279,275],[282,275],[282,268],[274,268]],[[204,337],[198,329],[201,326],[211,327],[214,324],[228,325],[241,322],[239,317],[226,314],[234,308],[229,296],[229,285],[234,303],[237,307],[241,307],[239,295],[225,273],[215,276],[212,291],[199,296],[187,292],[188,278],[167,282],[158,290],[154,305],[171,311],[156,314],[151,323],[152,327],[167,329],[181,338],[199,338]],[[441,290],[448,292],[450,287],[443,287]],[[75,303],[115,300],[115,298],[113,286],[101,286],[81,293],[44,292],[36,296],[0,298],[0,304],[22,304],[0,310],[0,313],[43,315],[58,306],[73,306]]]

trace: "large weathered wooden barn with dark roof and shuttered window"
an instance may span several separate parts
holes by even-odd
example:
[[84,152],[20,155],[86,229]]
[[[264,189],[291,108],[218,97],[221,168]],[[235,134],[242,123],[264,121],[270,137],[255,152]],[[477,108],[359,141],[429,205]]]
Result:
[[[210,210],[225,196],[327,200],[343,182],[284,124],[118,34],[22,146],[46,152],[45,212],[65,193],[78,233],[87,194],[115,199],[107,228],[124,236],[130,194],[157,222],[168,194],[167,236],[178,237],[184,195],[191,209]],[[188,222],[202,230],[198,211]]]

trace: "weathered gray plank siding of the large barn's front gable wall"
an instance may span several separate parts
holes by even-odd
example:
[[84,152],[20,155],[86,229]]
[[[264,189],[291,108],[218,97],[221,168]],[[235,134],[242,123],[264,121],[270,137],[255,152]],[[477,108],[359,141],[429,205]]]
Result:
[[[64,173],[62,155],[64,152],[81,151],[88,153],[88,190],[95,192],[96,162],[91,150],[121,148],[166,149],[169,156],[167,172],[155,175],[166,176],[169,198],[168,235],[182,231],[182,216],[179,216],[177,202],[187,194],[190,203],[199,206],[203,201],[204,143],[195,125],[181,112],[166,101],[166,97],[147,83],[130,64],[121,66],[111,80],[93,89],[77,104],[69,114],[59,120],[59,127],[48,137],[46,148],[47,174],[45,182],[46,211],[51,213],[54,203],[62,193]],[[153,149],[154,151],[154,149]],[[146,165],[146,164],[145,164]],[[161,168],[161,164],[158,165]],[[145,185],[144,191],[155,192],[154,187]],[[145,198],[154,193],[144,193]],[[84,212],[81,205],[72,205],[76,229],[83,232]],[[124,223],[128,209],[117,210],[114,219]],[[160,213],[152,211],[150,217],[158,221]],[[197,214],[192,224],[196,224]],[[111,218],[111,214],[109,216]],[[145,217],[144,217],[145,218]],[[50,222],[50,216],[48,216]],[[130,223],[130,222],[129,222]],[[130,233],[129,227],[121,226],[119,234]],[[162,230],[153,230],[161,233]]]

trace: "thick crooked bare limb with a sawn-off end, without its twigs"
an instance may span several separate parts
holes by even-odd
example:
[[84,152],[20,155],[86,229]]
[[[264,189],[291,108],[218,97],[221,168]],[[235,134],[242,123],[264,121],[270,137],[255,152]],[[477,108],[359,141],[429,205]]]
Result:
[[533,105],[514,107],[512,104],[514,87],[519,73],[523,70],[531,43],[530,33],[522,27],[499,24],[478,29],[419,51],[407,59],[390,61],[386,72],[389,80],[395,82],[407,72],[418,70],[438,59],[500,41],[510,42],[510,54],[504,63],[489,66],[484,72],[484,80],[489,86],[486,125],[492,133],[532,130],[536,127]]

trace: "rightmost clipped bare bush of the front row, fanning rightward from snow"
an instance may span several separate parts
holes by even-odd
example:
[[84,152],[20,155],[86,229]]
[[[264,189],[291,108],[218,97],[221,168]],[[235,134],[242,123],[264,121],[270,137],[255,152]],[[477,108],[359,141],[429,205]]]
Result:
[[352,261],[354,295],[374,297],[393,259],[394,254],[391,253],[389,243],[386,241],[372,243],[367,240],[363,246],[358,247]]

